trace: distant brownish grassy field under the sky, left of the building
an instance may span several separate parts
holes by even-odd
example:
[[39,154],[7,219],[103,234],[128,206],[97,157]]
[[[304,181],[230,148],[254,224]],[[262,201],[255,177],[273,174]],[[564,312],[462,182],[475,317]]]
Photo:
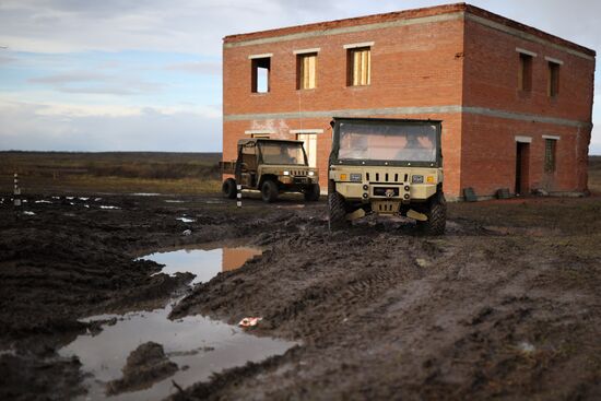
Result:
[[199,193],[220,189],[221,153],[0,152],[0,191]]

